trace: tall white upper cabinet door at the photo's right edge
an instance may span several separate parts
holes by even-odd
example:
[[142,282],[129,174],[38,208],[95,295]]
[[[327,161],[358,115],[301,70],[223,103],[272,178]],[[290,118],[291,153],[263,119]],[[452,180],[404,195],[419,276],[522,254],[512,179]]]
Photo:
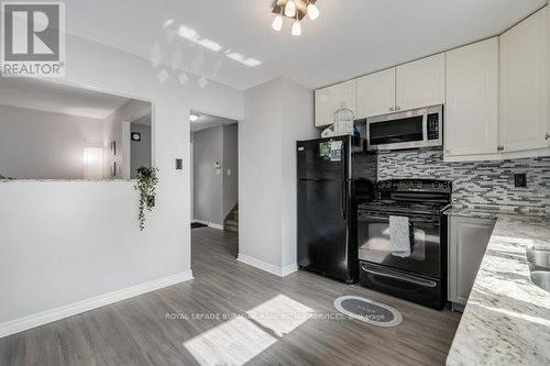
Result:
[[504,152],[548,147],[547,9],[501,35],[501,126]]

